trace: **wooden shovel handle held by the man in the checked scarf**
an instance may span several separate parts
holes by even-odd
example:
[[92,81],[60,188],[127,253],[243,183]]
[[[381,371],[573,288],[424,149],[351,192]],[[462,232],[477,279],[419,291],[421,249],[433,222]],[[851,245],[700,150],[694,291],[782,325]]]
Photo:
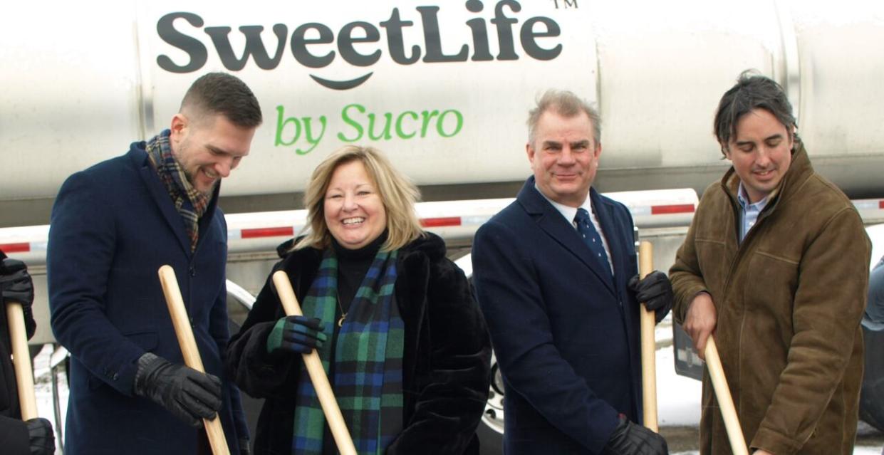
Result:
[[[187,309],[184,307],[184,299],[181,298],[178,279],[175,278],[175,270],[168,265],[164,265],[160,267],[159,275],[160,284],[163,285],[166,306],[169,307],[171,323],[175,327],[175,336],[178,337],[181,353],[184,354],[184,364],[200,373],[205,373],[206,370],[202,367],[200,351],[196,348],[194,330],[190,328]],[[212,453],[215,455],[230,455],[227,439],[224,436],[224,428],[221,428],[221,420],[218,419],[218,415],[216,414],[213,419],[202,419],[202,424],[206,427],[206,436],[209,436]]]

